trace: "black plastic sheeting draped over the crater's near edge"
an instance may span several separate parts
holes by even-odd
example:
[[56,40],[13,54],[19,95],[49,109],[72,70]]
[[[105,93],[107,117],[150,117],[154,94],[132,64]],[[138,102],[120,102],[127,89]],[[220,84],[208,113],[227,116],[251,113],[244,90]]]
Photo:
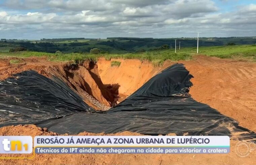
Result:
[[[256,134],[188,94],[193,77],[174,64],[152,77],[135,93],[107,112],[89,107],[62,80],[24,71],[0,82],[0,126],[36,124],[57,133],[83,131],[142,134]],[[239,136],[237,136],[239,135]]]

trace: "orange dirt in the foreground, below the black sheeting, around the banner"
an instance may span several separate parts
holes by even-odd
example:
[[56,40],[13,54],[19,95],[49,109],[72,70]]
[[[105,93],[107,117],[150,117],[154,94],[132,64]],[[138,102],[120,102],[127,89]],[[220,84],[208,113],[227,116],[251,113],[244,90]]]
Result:
[[[0,128],[1,135],[56,135],[46,129],[35,125],[7,126]],[[116,134],[82,132],[78,135],[141,135],[133,132],[120,132]],[[170,134],[173,135],[173,134]],[[229,154],[36,154],[33,159],[1,159],[0,164],[255,164],[256,152],[252,151],[247,157],[240,157],[235,153],[235,145],[239,141],[231,140]],[[6,157],[1,155],[0,157]],[[13,154],[8,156],[20,157]],[[27,155],[27,157],[32,157]]]

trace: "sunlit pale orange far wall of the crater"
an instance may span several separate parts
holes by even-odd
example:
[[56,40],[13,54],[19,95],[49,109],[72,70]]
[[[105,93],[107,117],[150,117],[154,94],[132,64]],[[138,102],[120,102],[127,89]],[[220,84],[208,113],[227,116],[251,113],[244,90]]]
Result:
[[[112,61],[121,62],[120,66],[111,66]],[[128,96],[145,84],[153,75],[161,71],[161,67],[153,67],[148,61],[137,59],[100,58],[97,62],[99,74],[104,84],[118,86],[119,94]]]

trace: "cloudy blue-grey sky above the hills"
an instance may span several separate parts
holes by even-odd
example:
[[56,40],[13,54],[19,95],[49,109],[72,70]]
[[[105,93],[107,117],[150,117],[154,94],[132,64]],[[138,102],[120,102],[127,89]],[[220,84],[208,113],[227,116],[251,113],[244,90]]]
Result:
[[256,36],[256,0],[0,0],[0,38]]

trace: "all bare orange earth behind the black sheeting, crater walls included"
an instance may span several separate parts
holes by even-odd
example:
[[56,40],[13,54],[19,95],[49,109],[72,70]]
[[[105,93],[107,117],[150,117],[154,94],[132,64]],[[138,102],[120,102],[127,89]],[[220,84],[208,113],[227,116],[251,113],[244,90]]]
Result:
[[[77,91],[85,102],[96,109],[108,109],[119,95],[125,99],[152,76],[176,62],[166,61],[161,67],[136,59],[111,59],[120,61],[120,66],[111,66],[103,58],[97,64],[84,62],[74,65],[65,62],[49,62],[44,58],[19,59],[18,64],[9,61],[17,58],[0,59],[0,80],[11,74],[33,69],[51,77],[62,78]],[[239,121],[240,125],[256,131],[256,63],[194,56],[184,63],[194,78],[190,90],[192,97],[206,103],[222,114]]]

